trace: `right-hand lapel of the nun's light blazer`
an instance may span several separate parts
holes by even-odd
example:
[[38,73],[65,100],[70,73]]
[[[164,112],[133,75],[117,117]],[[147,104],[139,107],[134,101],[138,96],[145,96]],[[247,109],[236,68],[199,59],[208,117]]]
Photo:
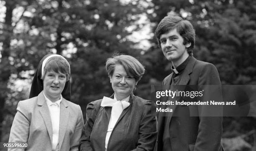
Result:
[[62,142],[67,130],[67,123],[69,121],[69,110],[67,100],[62,97],[60,103],[60,119],[59,119],[59,149],[61,149]]

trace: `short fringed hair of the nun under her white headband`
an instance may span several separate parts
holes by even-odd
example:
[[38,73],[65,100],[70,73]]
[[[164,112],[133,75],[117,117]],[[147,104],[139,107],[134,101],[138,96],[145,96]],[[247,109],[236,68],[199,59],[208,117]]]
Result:
[[45,66],[44,66],[44,73],[41,77],[41,79],[44,79],[44,76],[46,72],[61,72],[66,75],[67,81],[70,79],[70,68],[69,68],[69,63],[67,60],[65,60],[62,57],[51,57],[49,60],[47,60]]

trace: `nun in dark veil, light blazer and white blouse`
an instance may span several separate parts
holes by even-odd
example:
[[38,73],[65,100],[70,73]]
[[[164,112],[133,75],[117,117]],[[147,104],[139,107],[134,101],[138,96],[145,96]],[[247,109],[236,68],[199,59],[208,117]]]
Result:
[[80,106],[70,101],[67,59],[58,54],[41,59],[29,98],[18,102],[9,142],[24,143],[27,151],[78,151],[84,122]]

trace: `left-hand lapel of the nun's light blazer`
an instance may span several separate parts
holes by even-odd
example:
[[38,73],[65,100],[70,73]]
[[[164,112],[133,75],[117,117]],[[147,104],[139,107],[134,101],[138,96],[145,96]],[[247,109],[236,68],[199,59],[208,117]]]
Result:
[[52,142],[52,125],[51,125],[51,116],[50,116],[50,111],[48,109],[48,106],[46,104],[46,100],[43,94],[43,91],[38,95],[38,101],[37,101],[38,106],[41,106],[39,108],[39,112],[41,116],[44,119],[44,124],[46,126],[46,129],[49,134],[49,138]]

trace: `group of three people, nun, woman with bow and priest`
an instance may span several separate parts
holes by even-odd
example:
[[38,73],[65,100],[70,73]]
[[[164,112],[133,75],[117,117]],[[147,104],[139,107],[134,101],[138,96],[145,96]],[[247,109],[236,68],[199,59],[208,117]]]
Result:
[[[163,87],[220,84],[217,69],[192,56],[195,30],[177,16],[166,16],[156,29],[172,73]],[[83,122],[71,98],[70,66],[57,54],[40,61],[30,99],[19,101],[9,142],[27,143],[28,151],[221,151],[221,117],[159,116],[154,101],[133,95],[144,74],[143,65],[129,55],[106,62],[114,94],[87,105]],[[176,107],[179,110],[179,107]],[[175,110],[174,110],[175,113]],[[16,150],[9,149],[9,150]]]

